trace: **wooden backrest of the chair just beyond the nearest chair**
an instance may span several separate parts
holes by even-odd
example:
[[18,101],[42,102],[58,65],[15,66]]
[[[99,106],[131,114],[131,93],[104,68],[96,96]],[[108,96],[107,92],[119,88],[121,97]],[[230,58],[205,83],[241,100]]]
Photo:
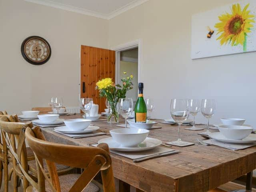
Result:
[[[12,156],[12,164],[15,174],[22,178],[23,188],[29,186],[29,182],[23,175],[28,174],[28,157],[25,144],[25,129],[33,124],[19,122],[17,115],[6,115],[0,117],[0,128],[3,143],[8,145],[9,156]],[[16,142],[17,141],[17,142]],[[17,147],[17,148],[16,148]],[[32,180],[32,178],[30,178]]]

